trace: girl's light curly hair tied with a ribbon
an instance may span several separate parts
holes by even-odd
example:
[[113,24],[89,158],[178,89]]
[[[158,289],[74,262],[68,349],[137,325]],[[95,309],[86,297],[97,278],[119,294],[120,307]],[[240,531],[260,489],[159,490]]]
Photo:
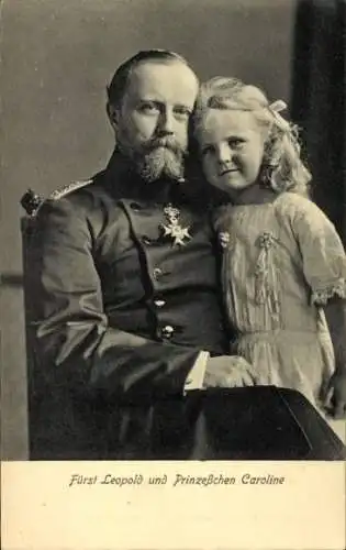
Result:
[[308,196],[311,174],[300,156],[298,127],[279,113],[283,108],[283,101],[269,103],[256,86],[237,78],[214,77],[201,85],[192,121],[193,133],[199,140],[210,109],[253,112],[259,127],[266,130],[261,183],[278,194],[292,191]]

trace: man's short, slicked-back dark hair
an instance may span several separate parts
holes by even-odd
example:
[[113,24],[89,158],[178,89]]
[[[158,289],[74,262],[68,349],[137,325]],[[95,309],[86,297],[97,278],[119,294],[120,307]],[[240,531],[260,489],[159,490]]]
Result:
[[114,73],[110,85],[107,87],[109,105],[120,107],[132,72],[144,62],[179,62],[189,67],[188,62],[175,52],[168,50],[143,50],[120,65]]

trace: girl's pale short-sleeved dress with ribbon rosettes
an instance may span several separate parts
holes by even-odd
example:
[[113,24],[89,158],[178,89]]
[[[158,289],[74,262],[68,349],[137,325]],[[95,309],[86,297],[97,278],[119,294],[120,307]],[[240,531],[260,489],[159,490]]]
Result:
[[270,204],[221,207],[215,228],[237,333],[231,351],[255,366],[257,384],[298,389],[317,405],[334,370],[322,306],[346,297],[334,226],[312,201],[284,193]]

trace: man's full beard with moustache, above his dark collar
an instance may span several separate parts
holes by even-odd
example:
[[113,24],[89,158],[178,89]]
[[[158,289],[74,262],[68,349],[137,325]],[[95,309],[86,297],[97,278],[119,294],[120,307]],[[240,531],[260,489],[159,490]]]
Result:
[[145,182],[152,183],[160,177],[183,177],[186,151],[170,135],[155,138],[136,148],[122,139],[119,146],[132,160],[136,172]]

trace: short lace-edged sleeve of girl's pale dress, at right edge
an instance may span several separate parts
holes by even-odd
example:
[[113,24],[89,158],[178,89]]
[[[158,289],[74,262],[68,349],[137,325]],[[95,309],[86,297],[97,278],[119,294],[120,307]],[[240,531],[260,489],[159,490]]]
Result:
[[346,254],[335,227],[314,202],[295,200],[294,230],[312,304],[325,306],[334,296],[346,299]]

